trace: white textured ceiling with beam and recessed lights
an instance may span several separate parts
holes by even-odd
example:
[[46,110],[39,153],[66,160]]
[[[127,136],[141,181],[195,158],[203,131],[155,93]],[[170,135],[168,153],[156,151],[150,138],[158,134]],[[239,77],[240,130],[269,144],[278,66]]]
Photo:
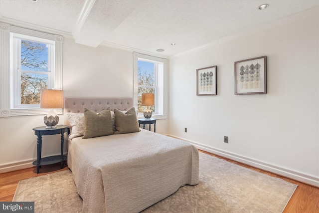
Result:
[[[269,7],[258,10],[263,3]],[[88,46],[172,56],[318,5],[319,0],[0,0],[0,20],[52,29]]]

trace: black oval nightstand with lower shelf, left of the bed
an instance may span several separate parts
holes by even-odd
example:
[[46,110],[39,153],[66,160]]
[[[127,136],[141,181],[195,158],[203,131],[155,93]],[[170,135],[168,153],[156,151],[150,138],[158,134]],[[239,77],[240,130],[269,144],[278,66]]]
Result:
[[[63,145],[64,145],[64,133],[68,131],[68,126],[58,125],[56,128],[46,129],[46,127],[35,127],[33,128],[34,135],[38,136],[37,140],[37,160],[33,162],[36,166],[36,173],[39,173],[42,165],[50,165],[61,162],[61,169],[63,169],[63,161],[67,159],[66,155],[63,155]],[[41,158],[42,151],[42,135],[56,135],[61,134],[61,155],[50,156],[46,158]]]

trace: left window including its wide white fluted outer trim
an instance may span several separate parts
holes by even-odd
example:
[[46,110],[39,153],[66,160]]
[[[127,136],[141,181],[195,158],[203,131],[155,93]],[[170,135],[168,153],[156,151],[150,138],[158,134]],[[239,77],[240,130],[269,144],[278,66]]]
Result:
[[40,91],[62,89],[63,37],[2,22],[0,30],[0,117],[48,113]]

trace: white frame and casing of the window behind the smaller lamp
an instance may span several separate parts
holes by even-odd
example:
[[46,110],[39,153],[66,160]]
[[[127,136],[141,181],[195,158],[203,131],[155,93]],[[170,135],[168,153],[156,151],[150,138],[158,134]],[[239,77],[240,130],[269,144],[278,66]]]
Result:
[[[165,119],[166,118],[166,109],[165,109],[165,79],[167,74],[167,59],[159,58],[151,55],[141,54],[138,52],[134,52],[134,95],[133,95],[133,102],[134,107],[138,109],[138,61],[147,61],[152,63],[157,63],[157,66],[154,68],[155,72],[155,112],[153,112],[152,117],[157,119]],[[162,76],[159,75],[159,64],[162,63]],[[159,82],[161,81],[161,82]],[[160,93],[160,94],[159,94]],[[139,113],[139,118],[143,118],[143,113]]]

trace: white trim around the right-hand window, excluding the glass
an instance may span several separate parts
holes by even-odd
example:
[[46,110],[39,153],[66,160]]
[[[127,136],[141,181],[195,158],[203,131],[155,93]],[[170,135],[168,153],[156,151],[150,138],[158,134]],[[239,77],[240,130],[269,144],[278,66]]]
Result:
[[[138,52],[133,52],[133,57],[134,57],[134,62],[133,62],[133,71],[134,71],[134,75],[133,75],[133,104],[134,107],[136,109],[138,109],[138,89],[139,89],[139,85],[138,85],[138,60],[139,58],[143,58],[146,60],[152,60],[152,61],[158,61],[158,62],[163,62],[163,112],[160,114],[153,114],[152,118],[157,118],[157,119],[165,119],[166,118],[166,86],[165,86],[165,82],[167,82],[167,59],[165,58],[159,58],[159,57],[155,57],[155,56],[151,56],[151,55],[145,55],[145,54],[141,54]],[[158,79],[158,78],[157,78]],[[143,115],[139,115],[139,118],[143,118]]]

